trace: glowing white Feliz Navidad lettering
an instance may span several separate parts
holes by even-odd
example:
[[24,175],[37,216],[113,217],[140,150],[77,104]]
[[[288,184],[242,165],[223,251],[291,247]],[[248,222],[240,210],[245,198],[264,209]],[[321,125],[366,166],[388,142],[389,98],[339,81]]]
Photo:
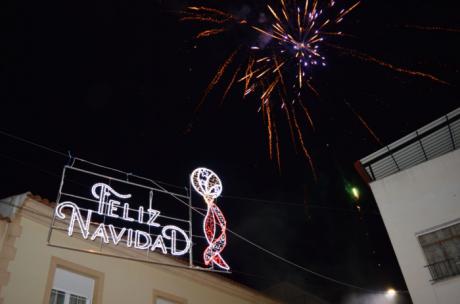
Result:
[[[169,253],[172,255],[184,255],[188,253],[190,248],[190,239],[181,228],[174,225],[162,226],[157,222],[160,211],[148,208],[144,210],[143,206],[140,206],[135,212],[130,208],[127,200],[131,198],[131,194],[120,194],[116,192],[112,187],[104,183],[94,184],[91,188],[92,196],[99,201],[97,210],[87,210],[86,218],[82,215],[80,208],[71,201],[65,201],[59,203],[56,206],[55,214],[60,219],[67,217],[64,212],[65,209],[70,209],[70,222],[68,226],[68,235],[72,236],[76,224],[80,229],[81,235],[84,239],[100,240],[106,244],[112,243],[118,245],[122,239],[125,239],[127,247],[134,247],[142,250],[161,250],[162,253]],[[99,215],[108,216],[111,218],[121,219],[126,222],[127,225],[133,222],[139,224],[145,224],[150,227],[159,230],[155,239],[152,238],[151,233],[128,228],[127,227],[116,227],[113,224],[99,223],[91,231],[91,218],[94,212]],[[133,215],[135,213],[135,215]],[[95,226],[95,225],[93,225]],[[118,230],[118,231],[117,231]],[[185,246],[180,248],[178,246],[178,235],[185,240]],[[169,246],[166,246],[165,240],[169,242]]]

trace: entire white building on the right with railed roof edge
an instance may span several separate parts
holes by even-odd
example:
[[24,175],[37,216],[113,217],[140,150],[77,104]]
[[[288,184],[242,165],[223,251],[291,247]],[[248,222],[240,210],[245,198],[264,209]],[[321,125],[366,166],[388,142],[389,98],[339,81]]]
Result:
[[360,160],[415,304],[460,303],[460,109]]

